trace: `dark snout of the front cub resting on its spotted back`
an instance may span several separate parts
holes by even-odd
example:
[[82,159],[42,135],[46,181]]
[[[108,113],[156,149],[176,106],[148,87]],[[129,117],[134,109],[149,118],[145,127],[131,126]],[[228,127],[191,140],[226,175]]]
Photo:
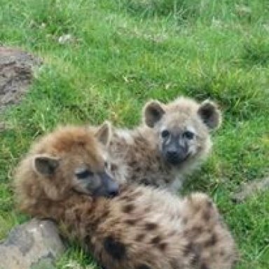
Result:
[[119,186],[114,179],[106,174],[106,172],[99,173],[99,177],[102,181],[102,188],[99,189],[97,195],[102,195],[107,198],[113,198],[118,195]]

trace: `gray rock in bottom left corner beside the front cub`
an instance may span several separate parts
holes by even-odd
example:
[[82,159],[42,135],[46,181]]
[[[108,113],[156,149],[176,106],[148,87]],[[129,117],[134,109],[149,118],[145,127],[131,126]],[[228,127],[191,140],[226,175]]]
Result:
[[55,268],[65,250],[53,221],[32,219],[17,226],[0,243],[0,269]]

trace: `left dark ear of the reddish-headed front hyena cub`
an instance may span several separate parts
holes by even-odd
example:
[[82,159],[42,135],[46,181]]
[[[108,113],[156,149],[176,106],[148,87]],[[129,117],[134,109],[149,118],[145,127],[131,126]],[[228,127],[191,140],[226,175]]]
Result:
[[59,163],[58,158],[47,155],[37,155],[34,157],[33,167],[37,173],[50,177],[55,173]]

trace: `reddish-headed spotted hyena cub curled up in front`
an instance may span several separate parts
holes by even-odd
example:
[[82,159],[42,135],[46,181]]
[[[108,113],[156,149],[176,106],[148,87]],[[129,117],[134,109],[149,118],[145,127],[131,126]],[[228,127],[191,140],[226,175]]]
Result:
[[64,225],[107,269],[231,268],[233,238],[207,195],[119,189],[99,146],[105,134],[64,127],[43,137],[18,166],[20,208]]

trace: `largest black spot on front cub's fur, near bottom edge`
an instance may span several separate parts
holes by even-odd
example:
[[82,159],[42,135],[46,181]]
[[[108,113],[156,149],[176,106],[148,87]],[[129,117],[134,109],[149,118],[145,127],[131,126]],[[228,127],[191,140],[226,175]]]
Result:
[[104,249],[116,260],[121,260],[125,257],[126,248],[122,242],[116,241],[112,236],[104,239]]

